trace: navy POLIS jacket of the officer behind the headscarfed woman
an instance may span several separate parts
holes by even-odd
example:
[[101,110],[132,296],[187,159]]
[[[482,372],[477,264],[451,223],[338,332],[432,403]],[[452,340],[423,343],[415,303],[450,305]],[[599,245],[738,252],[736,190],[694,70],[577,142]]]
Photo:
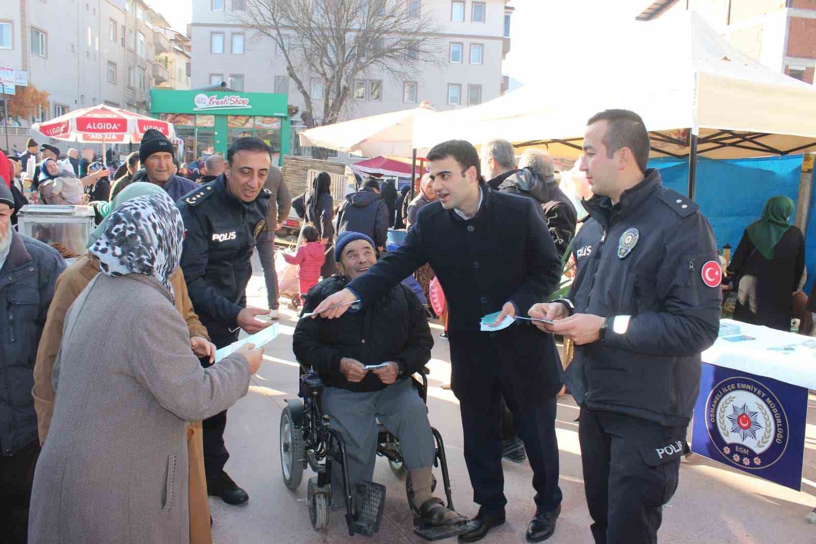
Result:
[[255,237],[266,224],[269,190],[242,203],[218,178],[184,195],[179,207],[187,230],[181,269],[193,307],[213,338],[228,334],[246,306]]

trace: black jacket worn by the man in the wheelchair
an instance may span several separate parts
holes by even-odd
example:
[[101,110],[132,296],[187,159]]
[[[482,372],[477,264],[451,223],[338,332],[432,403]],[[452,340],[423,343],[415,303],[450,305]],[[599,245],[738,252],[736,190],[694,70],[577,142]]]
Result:
[[[304,311],[312,311],[345,286],[342,276],[324,279],[308,292]],[[292,341],[295,357],[317,370],[327,386],[355,392],[379,391],[385,384],[373,372],[358,383],[347,381],[340,372],[340,359],[348,357],[363,364],[396,361],[401,376],[410,377],[431,359],[432,347],[424,308],[402,284],[365,309],[348,310],[339,319],[300,319]]]

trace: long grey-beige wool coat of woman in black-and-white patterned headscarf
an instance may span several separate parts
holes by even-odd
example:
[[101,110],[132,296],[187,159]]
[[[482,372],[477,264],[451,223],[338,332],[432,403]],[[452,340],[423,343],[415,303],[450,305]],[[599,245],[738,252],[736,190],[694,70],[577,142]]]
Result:
[[96,276],[65,320],[29,543],[188,542],[187,421],[232,406],[249,381],[242,355],[202,368],[159,283]]

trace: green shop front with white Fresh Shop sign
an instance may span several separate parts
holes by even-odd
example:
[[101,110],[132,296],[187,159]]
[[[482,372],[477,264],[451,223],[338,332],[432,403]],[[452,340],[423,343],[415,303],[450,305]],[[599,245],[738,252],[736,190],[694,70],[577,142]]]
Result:
[[184,163],[211,154],[226,157],[233,140],[243,136],[264,140],[278,165],[289,153],[286,95],[151,89],[150,111],[153,117],[173,123],[175,136],[184,141]]

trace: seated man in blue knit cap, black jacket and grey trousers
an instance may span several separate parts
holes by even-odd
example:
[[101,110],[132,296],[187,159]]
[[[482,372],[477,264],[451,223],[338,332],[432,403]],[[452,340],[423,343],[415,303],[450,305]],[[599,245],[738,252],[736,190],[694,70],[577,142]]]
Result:
[[[339,274],[309,291],[304,312],[374,265],[374,242],[365,234],[345,232],[335,243],[335,261]],[[293,339],[297,359],[326,385],[322,411],[343,438],[352,488],[374,475],[379,419],[400,440],[413,490],[411,509],[424,526],[441,527],[465,518],[432,495],[436,449],[428,409],[411,378],[431,359],[432,346],[424,308],[401,284],[370,307],[353,305],[340,319],[300,319]],[[342,472],[333,470],[331,476],[332,488],[342,489]],[[342,494],[332,496],[337,504]]]

